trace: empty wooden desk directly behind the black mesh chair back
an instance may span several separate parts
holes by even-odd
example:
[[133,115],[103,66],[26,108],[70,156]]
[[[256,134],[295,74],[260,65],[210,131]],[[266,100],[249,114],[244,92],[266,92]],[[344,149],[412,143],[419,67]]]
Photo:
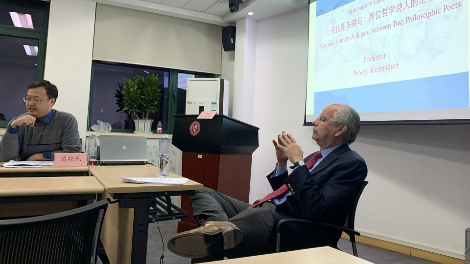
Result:
[[94,178],[0,178],[0,218],[64,212],[101,196],[104,188]]

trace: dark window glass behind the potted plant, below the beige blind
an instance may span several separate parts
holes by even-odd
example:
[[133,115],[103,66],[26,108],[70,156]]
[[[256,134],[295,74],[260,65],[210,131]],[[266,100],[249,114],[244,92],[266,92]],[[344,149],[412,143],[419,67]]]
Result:
[[[113,132],[133,132],[134,122],[126,112],[120,111],[115,97],[118,84],[124,79],[147,74],[158,75],[161,82],[160,101],[157,111],[148,118],[154,119],[152,130],[162,121],[163,132],[172,133],[174,114],[184,114],[186,109],[186,79],[190,77],[213,77],[213,74],[179,71],[151,66],[94,61],[90,91],[89,127],[96,120],[111,124]],[[176,102],[174,101],[176,99]],[[176,104],[175,104],[176,103]]]

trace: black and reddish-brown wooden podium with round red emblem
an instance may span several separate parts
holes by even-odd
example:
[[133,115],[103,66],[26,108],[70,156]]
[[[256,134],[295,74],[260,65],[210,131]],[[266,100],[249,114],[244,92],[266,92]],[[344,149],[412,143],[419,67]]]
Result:
[[[183,152],[182,176],[248,202],[259,128],[226,115],[213,119],[197,116],[175,115],[172,144]],[[178,222],[178,233],[197,227],[190,197],[181,198],[181,208],[188,217]]]

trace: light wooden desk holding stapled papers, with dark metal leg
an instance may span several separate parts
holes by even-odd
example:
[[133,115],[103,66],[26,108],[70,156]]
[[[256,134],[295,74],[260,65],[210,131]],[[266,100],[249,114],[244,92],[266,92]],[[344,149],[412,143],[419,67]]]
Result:
[[[147,259],[147,239],[151,200],[155,197],[194,195],[204,186],[192,180],[184,185],[137,184],[122,181],[122,176],[157,177],[152,165],[89,166],[103,185],[103,199],[110,204],[101,229],[101,242],[111,264],[143,264]],[[170,173],[170,177],[181,177]],[[152,220],[150,220],[152,221]],[[152,221],[153,222],[153,221]]]

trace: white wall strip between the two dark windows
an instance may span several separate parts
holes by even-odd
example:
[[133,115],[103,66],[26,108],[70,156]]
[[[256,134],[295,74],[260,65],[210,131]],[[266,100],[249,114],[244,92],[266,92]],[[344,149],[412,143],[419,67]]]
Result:
[[73,114],[80,137],[87,130],[96,3],[87,0],[50,2],[44,79],[55,84],[54,109]]

